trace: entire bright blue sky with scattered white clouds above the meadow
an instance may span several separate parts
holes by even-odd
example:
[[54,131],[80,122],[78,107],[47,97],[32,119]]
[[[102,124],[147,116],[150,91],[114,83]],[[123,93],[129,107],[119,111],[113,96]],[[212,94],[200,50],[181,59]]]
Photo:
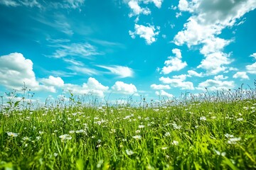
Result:
[[[0,0],[0,91],[112,100],[254,84],[255,0]],[[3,96],[1,95],[1,96]]]

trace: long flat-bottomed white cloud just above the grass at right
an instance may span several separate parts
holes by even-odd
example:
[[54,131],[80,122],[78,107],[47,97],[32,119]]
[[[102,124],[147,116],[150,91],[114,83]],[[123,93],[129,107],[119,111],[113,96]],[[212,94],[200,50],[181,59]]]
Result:
[[217,91],[217,90],[228,91],[229,89],[233,89],[234,87],[235,87],[234,81],[221,81],[221,80],[215,80],[215,79],[208,79],[198,84],[198,87],[196,87],[196,89],[204,91],[207,88],[209,91]]

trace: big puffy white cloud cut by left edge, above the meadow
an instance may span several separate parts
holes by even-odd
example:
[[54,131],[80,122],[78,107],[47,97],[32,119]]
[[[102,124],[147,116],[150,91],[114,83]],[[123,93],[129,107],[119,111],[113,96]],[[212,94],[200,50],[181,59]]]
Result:
[[33,91],[55,92],[53,86],[40,85],[33,72],[33,62],[21,53],[11,53],[0,57],[0,84],[8,89],[21,89],[25,82]]

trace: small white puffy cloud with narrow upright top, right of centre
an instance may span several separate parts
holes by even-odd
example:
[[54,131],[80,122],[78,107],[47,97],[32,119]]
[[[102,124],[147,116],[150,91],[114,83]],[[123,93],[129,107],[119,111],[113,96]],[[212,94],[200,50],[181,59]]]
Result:
[[181,50],[175,48],[172,52],[176,57],[168,57],[169,60],[164,62],[166,66],[163,67],[161,73],[169,74],[170,72],[179,71],[188,65],[186,62],[181,61]]

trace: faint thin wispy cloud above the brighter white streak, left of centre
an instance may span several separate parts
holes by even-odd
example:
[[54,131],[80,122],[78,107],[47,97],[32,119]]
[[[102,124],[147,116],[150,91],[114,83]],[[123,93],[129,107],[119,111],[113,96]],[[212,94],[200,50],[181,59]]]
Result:
[[50,57],[61,58],[67,56],[85,57],[88,58],[92,55],[101,55],[96,51],[95,47],[89,43],[72,43],[70,45],[55,45],[58,50],[53,52]]

